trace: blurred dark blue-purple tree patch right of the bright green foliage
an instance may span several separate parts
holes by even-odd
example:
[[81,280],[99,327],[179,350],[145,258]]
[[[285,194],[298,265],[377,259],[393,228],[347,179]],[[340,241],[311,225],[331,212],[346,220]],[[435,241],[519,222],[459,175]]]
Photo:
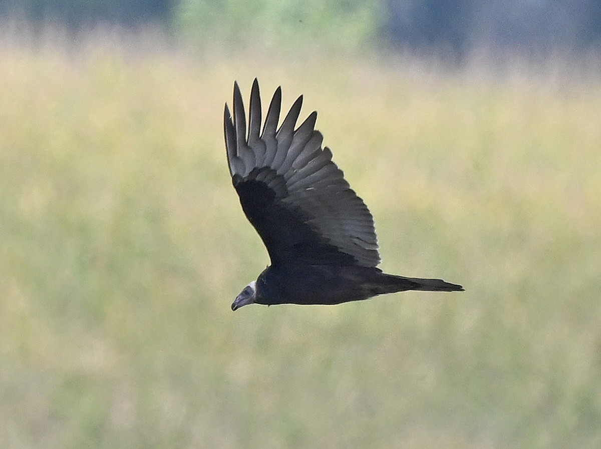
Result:
[[599,0],[387,0],[392,41],[410,47],[528,52],[601,44]]

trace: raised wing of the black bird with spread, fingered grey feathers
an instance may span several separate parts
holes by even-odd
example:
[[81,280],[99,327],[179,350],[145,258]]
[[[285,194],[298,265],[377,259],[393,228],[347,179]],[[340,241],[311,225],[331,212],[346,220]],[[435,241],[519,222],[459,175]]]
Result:
[[373,217],[322,149],[317,112],[294,129],[302,95],[278,129],[281,88],[261,128],[257,79],[252,84],[248,137],[242,95],[234,83],[234,117],[224,111],[232,181],[246,217],[267,247],[272,265],[375,267],[380,262]]

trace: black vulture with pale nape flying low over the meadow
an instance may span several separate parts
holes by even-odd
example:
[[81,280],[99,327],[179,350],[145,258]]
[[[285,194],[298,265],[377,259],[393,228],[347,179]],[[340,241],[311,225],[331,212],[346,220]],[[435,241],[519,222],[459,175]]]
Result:
[[246,304],[340,304],[406,290],[463,291],[441,279],[382,273],[373,217],[322,148],[317,112],[296,129],[302,95],[278,128],[281,88],[261,131],[261,98],[252,83],[248,136],[240,88],[234,117],[225,104],[228,164],[242,209],[267,247],[271,266],[237,296]]

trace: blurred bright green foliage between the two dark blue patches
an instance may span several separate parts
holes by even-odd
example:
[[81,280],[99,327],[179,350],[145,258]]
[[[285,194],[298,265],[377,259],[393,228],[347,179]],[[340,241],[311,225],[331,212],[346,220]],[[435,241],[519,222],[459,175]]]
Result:
[[203,43],[356,49],[376,38],[384,12],[379,0],[181,0],[175,23]]

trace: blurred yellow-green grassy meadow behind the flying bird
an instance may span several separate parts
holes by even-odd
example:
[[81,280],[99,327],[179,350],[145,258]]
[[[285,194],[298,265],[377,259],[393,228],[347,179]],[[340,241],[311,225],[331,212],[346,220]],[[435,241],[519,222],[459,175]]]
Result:
[[[1,46],[1,447],[600,447],[599,73],[151,47]],[[465,292],[231,312],[255,76],[319,111],[383,270]]]

